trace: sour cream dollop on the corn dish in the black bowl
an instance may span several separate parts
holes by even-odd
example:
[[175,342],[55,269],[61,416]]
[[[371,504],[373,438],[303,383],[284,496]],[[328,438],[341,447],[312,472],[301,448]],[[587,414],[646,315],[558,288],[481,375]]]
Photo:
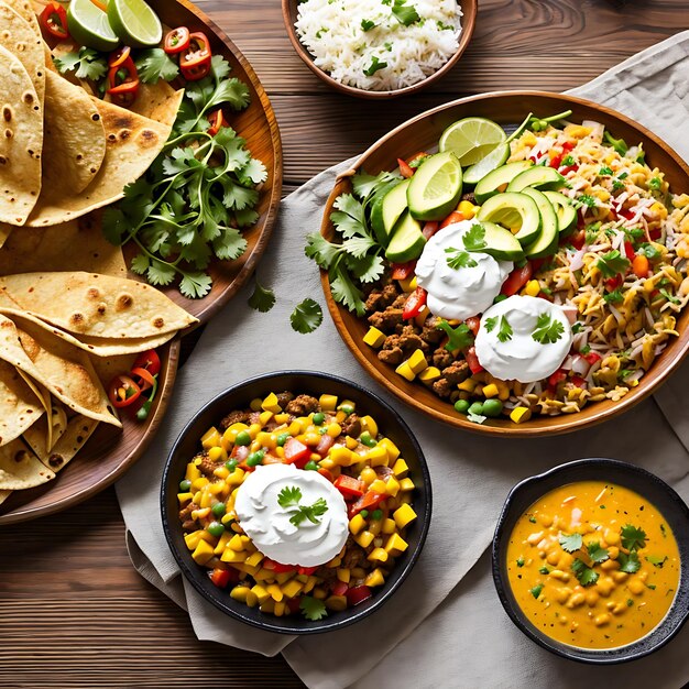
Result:
[[[278,495],[293,486],[302,491],[300,505],[313,505],[319,497],[326,501],[328,510],[317,517],[318,524],[289,522],[295,508],[282,507]],[[342,494],[317,471],[292,464],[256,467],[237,491],[234,512],[253,545],[282,565],[322,565],[339,554],[349,534]]]

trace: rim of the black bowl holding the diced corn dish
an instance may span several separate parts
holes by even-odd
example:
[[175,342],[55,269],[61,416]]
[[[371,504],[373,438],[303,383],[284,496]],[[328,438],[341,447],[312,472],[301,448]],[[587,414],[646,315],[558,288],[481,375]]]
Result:
[[[172,537],[172,529],[174,527],[181,528],[181,525],[178,523],[175,523],[174,520],[168,518],[168,514],[167,514],[167,496],[168,496],[168,488],[172,485],[171,472],[172,472],[173,459],[177,452],[178,446],[182,444],[186,435],[190,431],[190,428],[196,423],[198,417],[201,416],[203,414],[206,414],[208,409],[214,407],[226,396],[237,394],[243,389],[250,385],[253,385],[255,383],[262,383],[270,379],[275,379],[278,376],[287,376],[287,375],[309,378],[309,379],[316,379],[316,380],[321,380],[321,381],[336,381],[341,385],[353,389],[362,396],[373,400],[374,403],[380,404],[383,408],[385,408],[392,415],[393,419],[398,425],[401,431],[406,435],[412,447],[414,448],[414,452],[416,453],[418,458],[420,474],[423,478],[424,497],[425,497],[423,511],[417,512],[418,524],[420,527],[420,531],[418,534],[418,542],[414,550],[411,551],[407,560],[404,562],[403,566],[401,566],[402,570],[400,572],[400,576],[391,584],[387,584],[386,582],[383,586],[383,589],[375,593],[375,595],[373,597],[373,603],[370,606],[362,609],[362,610],[357,610],[357,608],[349,609],[351,610],[351,614],[348,614],[347,616],[343,616],[341,619],[335,617],[332,620],[326,619],[325,621],[320,620],[318,621],[318,626],[307,627],[307,628],[289,627],[286,625],[277,626],[277,625],[272,624],[270,622],[270,617],[267,616],[266,616],[267,621],[265,622],[256,621],[250,616],[242,614],[242,608],[240,608],[241,604],[238,603],[237,605],[238,609],[234,610],[232,605],[234,601],[232,601],[232,599],[230,599],[230,601],[230,601],[225,602],[220,600],[219,597],[208,595],[208,592],[201,587],[199,582],[198,573],[193,570],[192,564],[187,561],[187,559],[189,559],[188,557],[189,554],[181,553],[179,549],[176,547]],[[236,620],[239,620],[240,622],[243,622],[244,624],[249,624],[253,627],[263,630],[265,632],[276,632],[280,634],[304,636],[307,634],[320,634],[325,632],[331,632],[335,630],[340,630],[342,627],[349,626],[350,624],[353,624],[354,622],[358,622],[369,616],[373,612],[378,611],[381,608],[381,605],[383,605],[383,603],[390,600],[390,598],[397,591],[397,589],[402,586],[402,583],[405,581],[405,579],[408,577],[412,569],[416,565],[416,561],[420,557],[422,550],[424,548],[426,537],[428,535],[428,528],[430,526],[430,518],[431,518],[431,513],[433,513],[433,489],[431,489],[431,482],[430,482],[430,472],[428,470],[428,463],[426,461],[422,447],[418,440],[416,439],[416,436],[409,428],[408,424],[400,415],[400,413],[394,407],[392,407],[385,400],[380,397],[378,394],[371,392],[370,390],[363,387],[359,383],[349,381],[344,378],[335,375],[332,373],[326,373],[322,371],[308,371],[308,370],[303,370],[303,369],[287,369],[283,371],[271,371],[267,373],[261,373],[259,375],[244,379],[240,381],[239,383],[236,383],[231,385],[230,387],[214,395],[211,400],[209,400],[206,404],[204,404],[204,406],[200,407],[198,412],[196,412],[192,416],[192,418],[185,424],[184,428],[177,435],[165,459],[165,467],[163,469],[163,477],[161,480],[160,510],[161,510],[161,517],[163,522],[163,532],[165,534],[167,546],[173,557],[175,558],[175,561],[177,562],[177,566],[179,567],[182,575],[185,577],[187,581],[189,581],[189,583],[192,583],[192,586],[196,589],[196,591],[201,595],[204,600],[210,602],[218,610],[222,611],[226,614],[229,614],[231,617],[234,617]],[[228,598],[229,598],[229,594],[228,594]]]

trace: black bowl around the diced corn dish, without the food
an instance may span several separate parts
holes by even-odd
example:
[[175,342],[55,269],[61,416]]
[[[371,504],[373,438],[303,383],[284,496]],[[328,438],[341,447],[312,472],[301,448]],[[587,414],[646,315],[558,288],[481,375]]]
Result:
[[[200,447],[201,435],[210,426],[217,425],[231,411],[248,407],[251,400],[285,390],[314,396],[331,393],[340,398],[356,402],[357,408],[373,416],[379,423],[381,433],[400,448],[402,457],[409,466],[409,477],[416,484],[413,505],[418,518],[409,525],[405,537],[409,547],[397,558],[385,584],[374,589],[373,597],[368,601],[342,612],[329,612],[327,617],[319,621],[309,621],[296,615],[275,617],[230,598],[229,591],[218,589],[212,584],[208,578],[208,570],[192,559],[192,554],[184,543],[184,533],[178,518],[177,484],[184,478],[187,462]],[[211,400],[186,425],[175,441],[167,458],[161,489],[165,537],[182,572],[194,588],[228,615],[265,632],[281,634],[318,634],[339,630],[363,620],[378,610],[400,588],[418,559],[430,524],[430,508],[428,467],[416,438],[402,417],[387,403],[368,390],[336,375],[314,371],[266,373],[239,383]]]

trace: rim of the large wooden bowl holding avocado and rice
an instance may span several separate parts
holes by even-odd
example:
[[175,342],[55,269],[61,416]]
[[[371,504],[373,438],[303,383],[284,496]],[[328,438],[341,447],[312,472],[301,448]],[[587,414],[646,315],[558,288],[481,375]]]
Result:
[[[397,135],[400,132],[404,131],[409,125],[419,122],[422,120],[428,119],[431,120],[436,114],[444,112],[446,110],[450,110],[457,106],[463,106],[467,103],[472,103],[477,101],[486,101],[494,100],[501,98],[549,98],[557,99],[560,101],[565,101],[567,103],[572,103],[576,106],[581,106],[583,108],[592,108],[594,110],[601,111],[605,114],[612,116],[626,125],[637,130],[642,133],[643,136],[653,141],[658,147],[663,149],[674,161],[675,163],[682,169],[687,179],[689,181],[689,164],[683,161],[683,158],[663,139],[654,134],[646,127],[636,122],[632,118],[619,112],[617,110],[610,108],[608,106],[602,106],[597,103],[595,101],[589,100],[587,98],[581,98],[579,96],[570,96],[568,94],[557,94],[554,91],[544,91],[544,90],[504,90],[504,91],[490,91],[485,94],[477,94],[474,96],[468,96],[464,98],[458,98],[456,100],[451,100],[449,102],[442,103],[429,110],[425,110],[419,114],[409,118],[405,122],[402,122],[386,134],[378,139],[371,146],[369,146],[352,164],[349,169],[343,171],[338,175],[335,181],[335,185],[326,200],[324,207],[322,219],[320,223],[320,234],[322,237],[329,236],[329,210],[331,209],[335,199],[338,194],[342,192],[340,185],[343,181],[352,177],[359,169],[362,169],[365,165],[369,157],[375,152],[387,145],[389,141]],[[531,422],[525,424],[511,424],[504,426],[492,426],[492,425],[482,425],[474,424],[467,419],[466,416],[453,413],[452,405],[448,402],[445,403],[445,407],[442,411],[427,406],[426,404],[419,403],[413,394],[409,394],[403,390],[400,385],[397,385],[397,381],[394,378],[385,374],[383,370],[375,368],[372,363],[369,362],[363,350],[360,348],[360,342],[354,340],[349,329],[341,322],[343,311],[343,307],[335,302],[332,298],[332,294],[330,291],[330,283],[328,278],[328,272],[320,270],[320,284],[324,291],[324,295],[326,297],[326,304],[328,306],[328,310],[330,311],[330,316],[335,321],[336,329],[348,349],[352,352],[359,364],[364,369],[368,375],[370,375],[376,383],[384,386],[387,391],[394,394],[400,401],[404,402],[406,405],[412,408],[419,411],[427,416],[442,422],[445,424],[449,424],[455,426],[456,428],[461,428],[463,430],[468,430],[470,433],[474,433],[482,436],[493,436],[493,437],[502,437],[502,438],[534,438],[534,437],[544,437],[544,436],[556,436],[567,433],[573,433],[575,430],[581,430],[582,428],[590,428],[594,425],[601,424],[603,422],[610,420],[620,414],[623,414],[630,411],[636,404],[643,402],[648,396],[654,394],[658,387],[667,381],[667,379],[676,371],[676,369],[681,364],[681,362],[689,354],[689,329],[687,329],[685,339],[687,340],[683,344],[683,348],[675,347],[672,349],[671,357],[667,359],[667,363],[663,369],[657,369],[657,363],[654,362],[654,367],[652,367],[650,371],[656,369],[654,373],[653,380],[650,383],[642,383],[635,389],[632,389],[630,393],[627,393],[624,397],[619,400],[608,409],[599,411],[598,413],[592,412],[590,417],[582,418],[581,414],[561,414],[559,416],[554,417],[544,417],[544,419],[548,419],[548,426],[534,425],[534,420],[538,420],[532,418]],[[683,313],[683,311],[682,311]],[[674,341],[681,341],[682,332],[680,332],[679,338]],[[664,352],[665,353],[665,352]],[[392,368],[387,367],[392,371]],[[598,407],[589,407],[598,411]],[[557,420],[553,420],[557,419]]]

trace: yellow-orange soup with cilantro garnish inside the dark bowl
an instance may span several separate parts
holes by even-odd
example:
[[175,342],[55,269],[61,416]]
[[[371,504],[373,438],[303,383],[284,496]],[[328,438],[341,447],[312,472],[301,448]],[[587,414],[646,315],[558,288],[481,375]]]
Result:
[[546,493],[517,521],[507,546],[512,592],[548,636],[614,648],[665,617],[679,583],[679,550],[657,507],[612,483]]

